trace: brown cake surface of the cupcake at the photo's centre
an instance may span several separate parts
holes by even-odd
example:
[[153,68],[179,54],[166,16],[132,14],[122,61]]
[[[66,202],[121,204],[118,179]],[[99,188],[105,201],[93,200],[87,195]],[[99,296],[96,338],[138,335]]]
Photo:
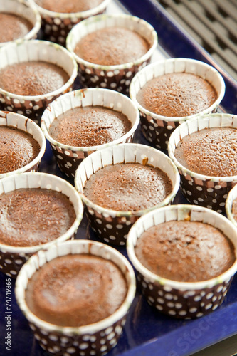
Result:
[[106,166],[85,183],[85,197],[106,209],[138,211],[159,204],[172,192],[172,182],[159,168],[139,163]]

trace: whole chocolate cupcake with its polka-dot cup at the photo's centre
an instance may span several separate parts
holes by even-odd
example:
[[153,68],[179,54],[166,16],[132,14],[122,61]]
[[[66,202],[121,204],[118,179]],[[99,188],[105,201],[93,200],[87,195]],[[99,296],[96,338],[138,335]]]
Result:
[[105,242],[123,246],[139,216],[172,202],[179,174],[164,153],[121,144],[85,158],[76,171],[75,188],[93,231]]

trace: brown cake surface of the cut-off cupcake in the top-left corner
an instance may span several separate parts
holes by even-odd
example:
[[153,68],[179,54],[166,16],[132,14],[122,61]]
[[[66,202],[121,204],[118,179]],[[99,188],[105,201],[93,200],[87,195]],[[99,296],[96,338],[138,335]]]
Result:
[[9,42],[17,38],[23,38],[33,28],[30,21],[7,12],[0,12],[0,23],[0,42]]

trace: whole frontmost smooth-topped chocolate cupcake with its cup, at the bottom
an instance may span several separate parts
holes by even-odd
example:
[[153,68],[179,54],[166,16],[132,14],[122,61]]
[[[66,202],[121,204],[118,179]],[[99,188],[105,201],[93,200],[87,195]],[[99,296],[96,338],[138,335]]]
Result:
[[[33,303],[31,295],[37,295],[38,288],[42,293],[41,287],[47,293]],[[58,287],[53,303],[48,301],[47,295],[55,295]],[[135,290],[135,274],[127,258],[105,244],[76,240],[32,256],[21,268],[15,292],[43,350],[53,355],[89,356],[105,355],[115,347]]]

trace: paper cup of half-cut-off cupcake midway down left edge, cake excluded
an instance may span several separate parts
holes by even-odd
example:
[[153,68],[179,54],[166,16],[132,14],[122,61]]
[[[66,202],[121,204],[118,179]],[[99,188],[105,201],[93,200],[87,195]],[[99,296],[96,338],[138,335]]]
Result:
[[[38,155],[30,163],[19,169],[15,169],[14,171],[1,173],[0,179],[9,177],[12,174],[20,174],[23,172],[38,172],[41,159],[46,151],[46,138],[44,137],[40,127],[38,127],[35,122],[28,119],[28,117],[16,114],[15,112],[7,111],[0,111],[0,126],[16,127],[16,129],[23,130],[24,132],[31,135],[40,146]],[[3,155],[3,153],[1,153],[1,155]],[[2,157],[4,157],[4,155]]]

